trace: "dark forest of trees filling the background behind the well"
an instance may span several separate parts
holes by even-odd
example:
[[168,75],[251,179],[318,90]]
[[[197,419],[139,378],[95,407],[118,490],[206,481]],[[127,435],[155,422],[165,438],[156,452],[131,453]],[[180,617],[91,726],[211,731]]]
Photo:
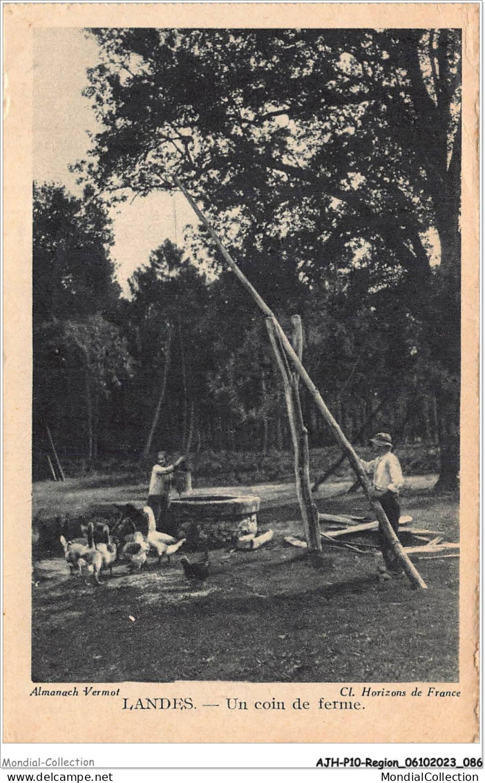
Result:
[[[302,316],[305,366],[350,439],[390,431],[411,462],[425,444],[408,467],[456,489],[459,31],[88,34],[101,129],[73,161],[83,195],[34,185],[34,478],[46,425],[69,474],[145,471],[189,439],[200,472],[286,470],[264,322],[203,229],[141,258],[129,296],[117,283],[108,207],[176,173],[283,326]],[[332,435],[302,405],[325,462]]]

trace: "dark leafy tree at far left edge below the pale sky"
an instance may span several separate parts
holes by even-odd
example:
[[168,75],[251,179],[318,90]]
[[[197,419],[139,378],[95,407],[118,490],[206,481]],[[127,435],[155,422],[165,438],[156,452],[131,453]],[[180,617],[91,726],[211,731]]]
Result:
[[[40,448],[45,422],[56,421],[61,444],[68,443],[70,453],[82,449],[92,460],[100,400],[117,385],[116,370],[129,370],[116,327],[102,317],[113,313],[120,294],[111,244],[106,207],[92,188],[78,199],[63,187],[34,184],[34,452]],[[80,426],[77,416],[85,424]],[[86,443],[81,446],[84,430]]]

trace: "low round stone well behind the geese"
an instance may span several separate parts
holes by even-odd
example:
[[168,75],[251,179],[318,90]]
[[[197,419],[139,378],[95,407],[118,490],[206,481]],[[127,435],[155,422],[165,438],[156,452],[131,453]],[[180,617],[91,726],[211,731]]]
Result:
[[171,501],[171,525],[189,550],[216,549],[257,532],[259,509],[253,495],[189,495]]

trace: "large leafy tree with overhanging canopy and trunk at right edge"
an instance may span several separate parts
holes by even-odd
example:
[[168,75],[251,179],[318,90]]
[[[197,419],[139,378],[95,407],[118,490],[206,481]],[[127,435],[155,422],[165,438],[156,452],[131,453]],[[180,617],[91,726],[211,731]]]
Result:
[[102,63],[86,94],[103,129],[78,168],[122,194],[183,175],[274,298],[275,264],[278,282],[293,269],[310,287],[361,266],[366,296],[404,294],[433,364],[440,485],[456,485],[459,31],[93,34]]

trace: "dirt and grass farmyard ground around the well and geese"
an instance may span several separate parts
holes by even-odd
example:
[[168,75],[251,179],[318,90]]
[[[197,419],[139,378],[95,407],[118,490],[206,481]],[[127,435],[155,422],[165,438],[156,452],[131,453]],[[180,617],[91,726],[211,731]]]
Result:
[[[458,503],[435,496],[432,485],[432,476],[408,480],[403,513],[458,541]],[[324,485],[319,510],[368,513],[348,486]],[[234,488],[210,489],[228,491]],[[74,514],[144,493],[138,485],[41,482],[34,511]],[[254,552],[211,552],[201,589],[186,581],[180,554],[161,566],[150,557],[137,575],[117,564],[102,586],[70,576],[60,544],[59,556],[34,562],[33,680],[458,680],[458,558],[415,560],[426,591],[411,590],[404,577],[379,583],[372,552],[325,547],[317,563],[285,543],[290,532],[301,535],[293,485],[237,493],[260,496],[258,522],[275,537]]]

